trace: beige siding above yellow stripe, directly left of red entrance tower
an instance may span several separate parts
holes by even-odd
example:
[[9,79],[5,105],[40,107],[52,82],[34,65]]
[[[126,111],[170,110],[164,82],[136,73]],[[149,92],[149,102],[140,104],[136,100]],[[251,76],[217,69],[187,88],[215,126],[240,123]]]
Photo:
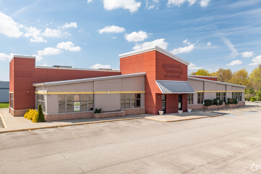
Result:
[[145,76],[121,78],[121,91],[144,91]]

